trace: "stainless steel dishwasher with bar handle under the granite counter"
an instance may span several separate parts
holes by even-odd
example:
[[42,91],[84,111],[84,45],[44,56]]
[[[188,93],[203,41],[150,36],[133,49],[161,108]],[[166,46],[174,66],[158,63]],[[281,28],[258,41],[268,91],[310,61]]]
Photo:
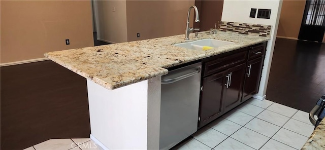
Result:
[[202,62],[161,77],[159,149],[169,149],[198,129]]

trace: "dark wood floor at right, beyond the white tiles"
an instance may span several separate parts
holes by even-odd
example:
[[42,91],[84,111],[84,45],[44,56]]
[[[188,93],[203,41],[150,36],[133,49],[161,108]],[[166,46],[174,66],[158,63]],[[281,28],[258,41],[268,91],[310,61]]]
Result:
[[325,44],[277,38],[267,99],[309,111],[325,94]]

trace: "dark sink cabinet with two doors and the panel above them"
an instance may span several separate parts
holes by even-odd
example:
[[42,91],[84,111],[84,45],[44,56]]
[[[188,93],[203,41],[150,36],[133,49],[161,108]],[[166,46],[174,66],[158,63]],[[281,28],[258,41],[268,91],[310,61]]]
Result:
[[203,127],[241,102],[247,51],[204,61],[199,127]]

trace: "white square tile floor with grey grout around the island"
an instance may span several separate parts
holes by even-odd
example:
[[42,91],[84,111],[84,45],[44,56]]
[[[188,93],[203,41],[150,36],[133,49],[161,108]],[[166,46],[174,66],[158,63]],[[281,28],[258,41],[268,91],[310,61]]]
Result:
[[[250,99],[173,149],[301,149],[314,127],[308,113]],[[89,138],[50,139],[26,149],[102,149]]]

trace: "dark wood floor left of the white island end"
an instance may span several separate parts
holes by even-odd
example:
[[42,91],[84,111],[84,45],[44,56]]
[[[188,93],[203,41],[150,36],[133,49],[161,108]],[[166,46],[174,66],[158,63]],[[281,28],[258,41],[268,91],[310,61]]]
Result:
[[85,78],[50,60],[1,67],[1,149],[89,134]]

